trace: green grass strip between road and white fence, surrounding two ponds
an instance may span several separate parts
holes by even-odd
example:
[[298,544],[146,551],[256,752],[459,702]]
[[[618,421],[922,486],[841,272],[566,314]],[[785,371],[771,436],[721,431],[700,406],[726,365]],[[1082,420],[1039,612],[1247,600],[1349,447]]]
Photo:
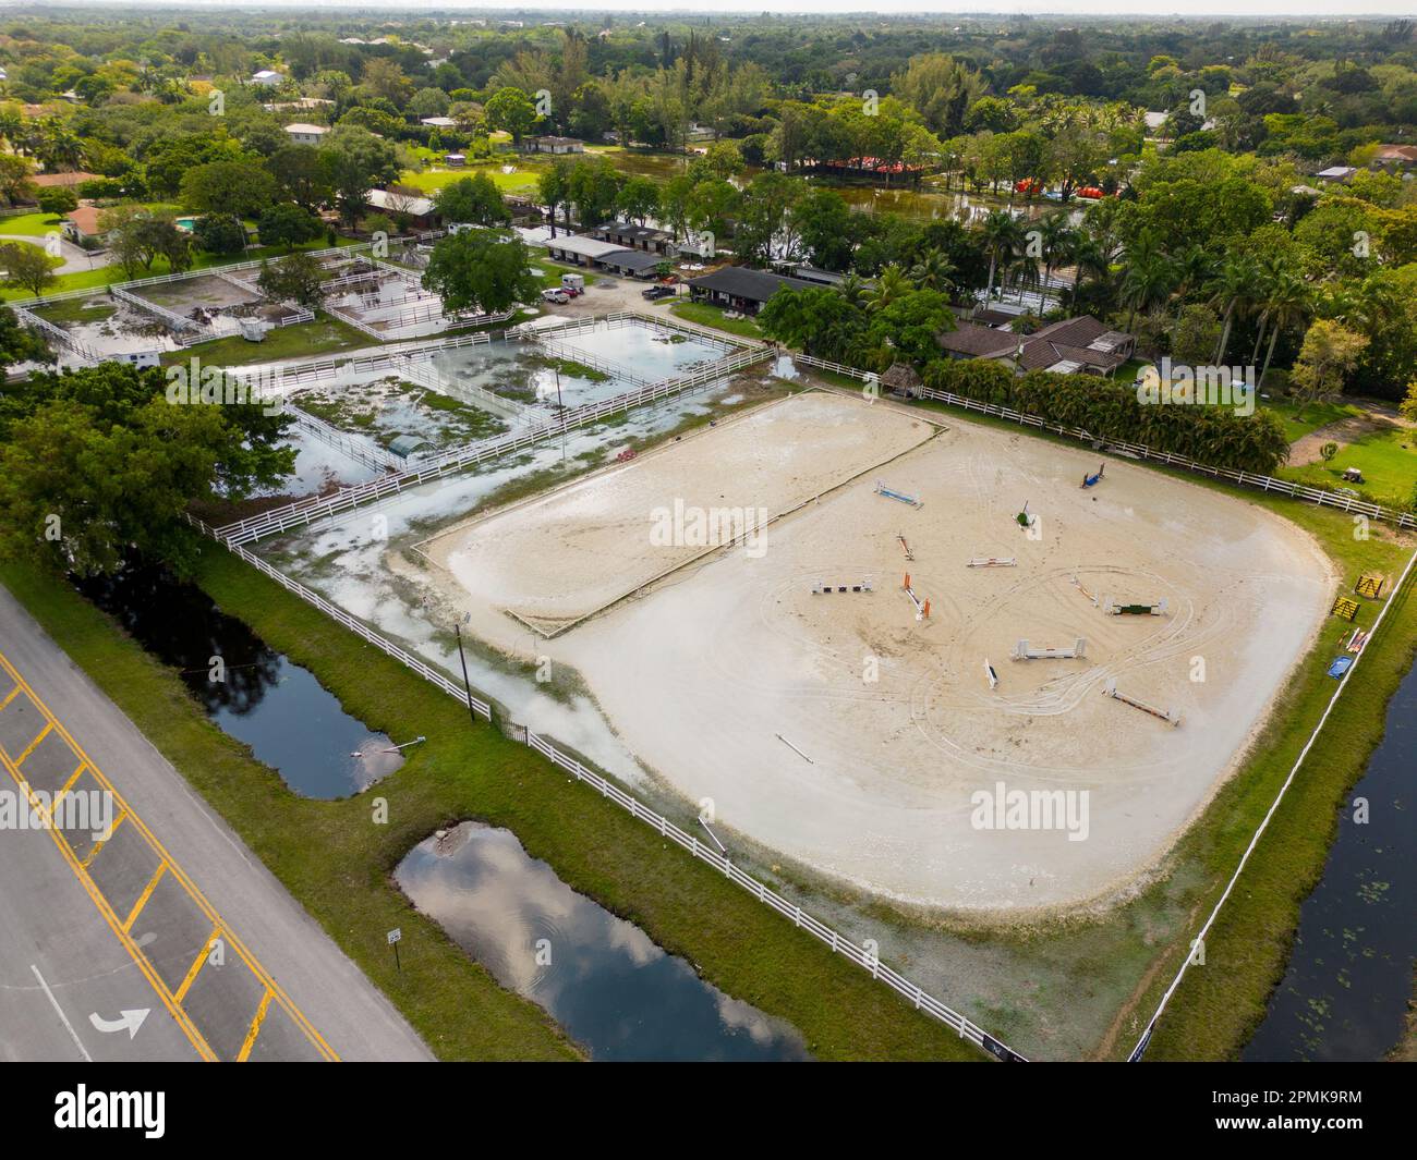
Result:
[[[371,729],[429,738],[376,790],[347,802],[296,797],[78,596],[16,565],[0,578],[444,1058],[567,1054],[519,999],[493,996],[480,967],[453,963],[462,953],[391,882],[408,848],[469,817],[513,830],[572,889],[639,925],[728,994],[798,1027],[818,1058],[981,1058],[740,887],[534,751],[473,728],[461,703],[220,548],[205,548],[197,581],[225,612],[310,669]],[[387,826],[370,823],[374,795],[388,802]],[[391,926],[404,928],[411,952],[401,977],[384,943]]]

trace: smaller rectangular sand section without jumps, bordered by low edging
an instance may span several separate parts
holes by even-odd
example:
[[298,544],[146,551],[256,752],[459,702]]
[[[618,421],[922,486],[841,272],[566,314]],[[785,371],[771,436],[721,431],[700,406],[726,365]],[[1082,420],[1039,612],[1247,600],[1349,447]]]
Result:
[[798,395],[418,550],[475,598],[492,637],[489,609],[553,635],[743,534],[765,552],[771,520],[935,432],[894,408]]

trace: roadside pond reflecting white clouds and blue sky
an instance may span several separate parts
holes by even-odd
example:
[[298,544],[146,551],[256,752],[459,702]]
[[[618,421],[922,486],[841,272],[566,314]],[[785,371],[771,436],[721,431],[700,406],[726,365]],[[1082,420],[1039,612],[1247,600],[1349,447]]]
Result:
[[638,926],[575,894],[509,830],[415,846],[395,877],[497,980],[595,1059],[806,1059],[791,1027],[708,986]]

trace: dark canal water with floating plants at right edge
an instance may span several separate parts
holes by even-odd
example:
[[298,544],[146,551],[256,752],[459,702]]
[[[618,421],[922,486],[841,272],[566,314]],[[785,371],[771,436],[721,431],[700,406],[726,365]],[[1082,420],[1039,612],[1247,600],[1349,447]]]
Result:
[[[1383,741],[1299,912],[1284,982],[1241,1059],[1382,1059],[1401,1037],[1417,956],[1414,766],[1417,667],[1387,705]],[[1360,802],[1365,823],[1355,820]]]

